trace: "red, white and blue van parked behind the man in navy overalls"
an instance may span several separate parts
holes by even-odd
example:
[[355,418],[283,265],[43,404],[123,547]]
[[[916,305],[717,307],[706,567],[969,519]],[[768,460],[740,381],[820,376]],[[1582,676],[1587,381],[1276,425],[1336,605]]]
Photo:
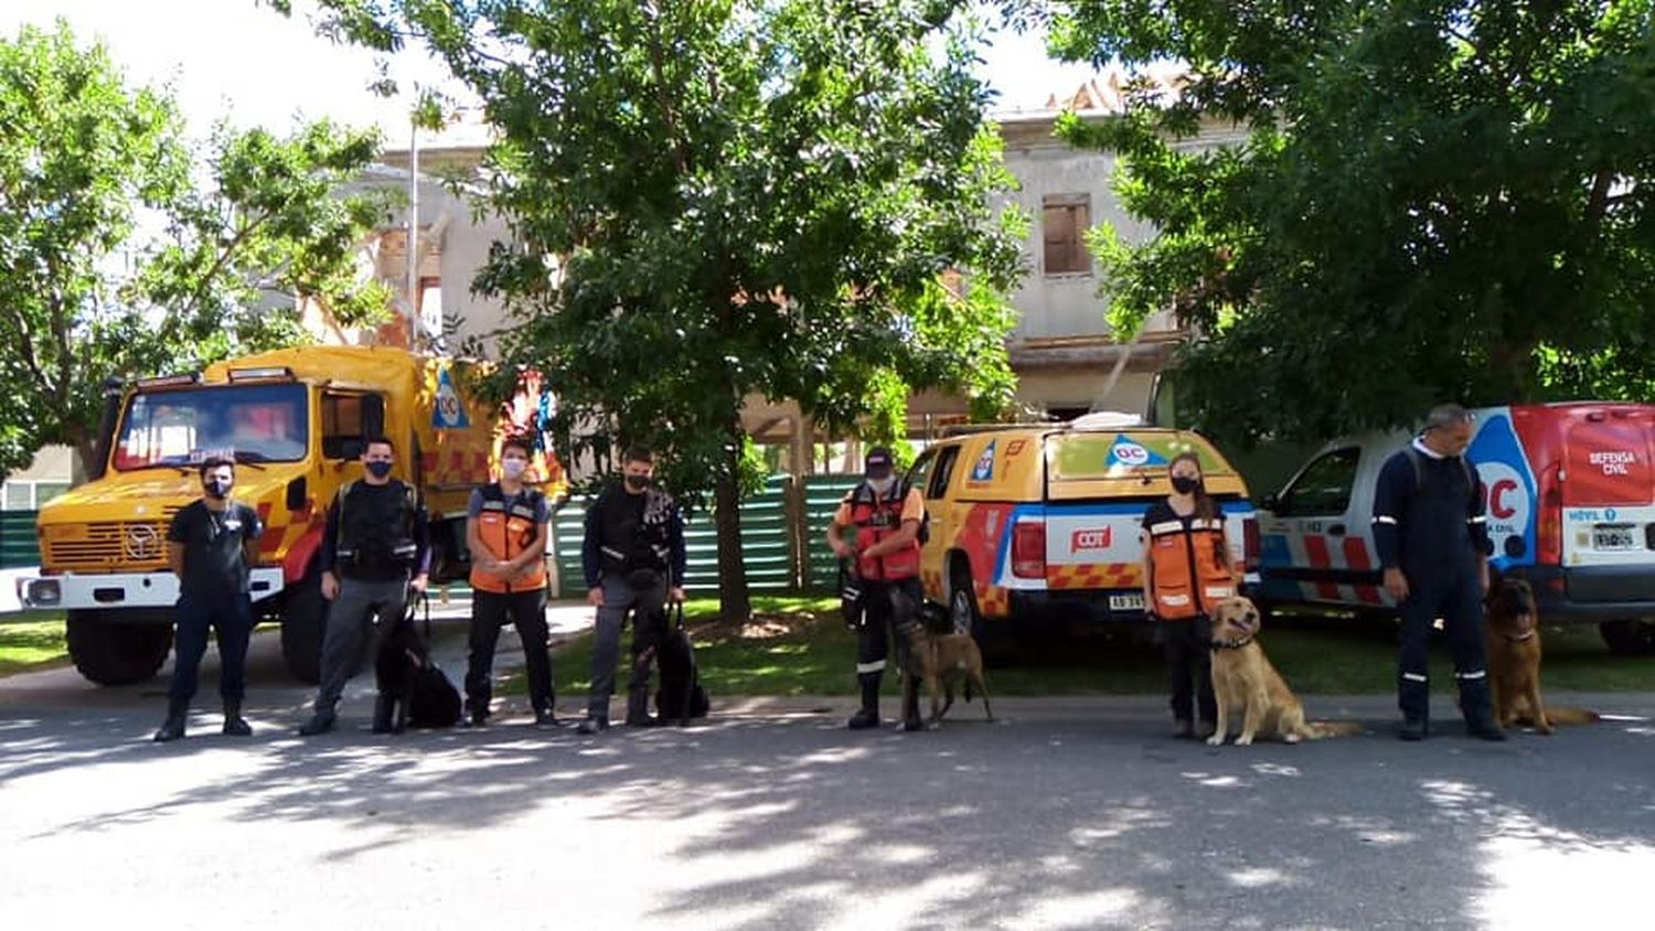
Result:
[[[1493,562],[1534,585],[1547,622],[1599,622],[1615,652],[1655,652],[1655,405],[1577,402],[1473,412],[1468,456]],[[1324,446],[1259,509],[1259,597],[1355,610],[1379,584],[1374,485],[1410,433]]]

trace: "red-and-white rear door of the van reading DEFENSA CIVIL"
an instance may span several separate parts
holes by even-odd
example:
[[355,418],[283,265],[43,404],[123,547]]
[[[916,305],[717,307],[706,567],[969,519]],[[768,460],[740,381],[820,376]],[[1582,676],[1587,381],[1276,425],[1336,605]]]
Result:
[[[1564,423],[1562,562],[1655,569],[1655,408],[1569,412]],[[1617,600],[1574,592],[1581,600]],[[1629,592],[1630,594],[1630,592]]]

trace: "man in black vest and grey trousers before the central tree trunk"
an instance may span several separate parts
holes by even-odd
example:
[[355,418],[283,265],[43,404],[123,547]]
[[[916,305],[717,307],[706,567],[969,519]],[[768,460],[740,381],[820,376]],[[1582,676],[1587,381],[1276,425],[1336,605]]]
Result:
[[[621,658],[621,625],[632,610],[632,655],[639,656],[659,635],[655,620],[665,604],[684,600],[684,514],[670,494],[650,488],[655,453],[631,446],[621,461],[621,481],[611,485],[586,511],[581,567],[586,604],[597,609],[592,645],[592,690],[583,734],[609,729],[609,696]],[[649,666],[632,663],[627,685],[627,726],[654,723],[647,708]]]

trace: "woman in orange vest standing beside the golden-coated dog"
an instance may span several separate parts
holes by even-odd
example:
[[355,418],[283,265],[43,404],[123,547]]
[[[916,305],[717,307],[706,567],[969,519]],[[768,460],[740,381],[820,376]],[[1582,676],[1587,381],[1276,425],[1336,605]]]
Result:
[[1225,541],[1225,514],[1202,486],[1202,460],[1178,453],[1167,466],[1172,494],[1144,514],[1144,610],[1155,620],[1167,655],[1175,736],[1213,733],[1211,622],[1208,612],[1236,594]]

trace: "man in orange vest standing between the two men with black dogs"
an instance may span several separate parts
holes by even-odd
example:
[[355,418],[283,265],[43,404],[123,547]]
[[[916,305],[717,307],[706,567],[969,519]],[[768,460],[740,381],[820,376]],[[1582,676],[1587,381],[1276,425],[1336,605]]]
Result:
[[551,650],[546,633],[546,496],[523,485],[530,448],[500,445],[500,481],[472,491],[465,542],[472,552],[472,635],[465,673],[467,719],[488,723],[490,676],[500,628],[510,620],[523,642],[535,724],[554,726]]

